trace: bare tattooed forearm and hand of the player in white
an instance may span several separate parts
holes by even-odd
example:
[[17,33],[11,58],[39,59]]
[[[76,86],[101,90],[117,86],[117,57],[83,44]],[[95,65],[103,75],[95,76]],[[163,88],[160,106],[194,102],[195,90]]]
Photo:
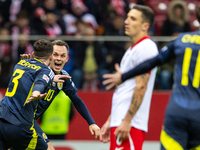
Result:
[[118,134],[120,133],[119,141],[123,141],[128,138],[131,130],[131,119],[133,118],[142,103],[144,94],[147,89],[148,80],[149,73],[145,73],[135,77],[136,87],[134,89],[128,112],[126,113],[126,116],[122,123],[117,127],[114,132],[116,139],[118,137]]

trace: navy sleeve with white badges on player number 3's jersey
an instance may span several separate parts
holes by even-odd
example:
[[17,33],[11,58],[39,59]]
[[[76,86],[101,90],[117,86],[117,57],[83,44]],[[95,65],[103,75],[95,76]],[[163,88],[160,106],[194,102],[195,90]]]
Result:
[[43,93],[45,88],[53,82],[53,78],[54,73],[50,68],[41,69],[34,81],[32,91],[39,91],[40,93]]

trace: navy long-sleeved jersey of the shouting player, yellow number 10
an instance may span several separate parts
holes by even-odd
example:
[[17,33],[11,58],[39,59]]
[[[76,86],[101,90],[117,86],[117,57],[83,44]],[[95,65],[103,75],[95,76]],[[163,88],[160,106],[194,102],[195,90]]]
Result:
[[[62,70],[61,75],[69,75],[66,71]],[[54,98],[58,95],[60,90],[62,90],[72,101],[77,111],[82,115],[82,117],[88,122],[89,125],[95,124],[95,121],[91,117],[86,105],[82,99],[77,94],[77,88],[71,79],[64,79],[64,83],[53,82],[51,86],[47,89],[47,96],[40,100],[35,119],[41,117],[45,110],[49,107]]]

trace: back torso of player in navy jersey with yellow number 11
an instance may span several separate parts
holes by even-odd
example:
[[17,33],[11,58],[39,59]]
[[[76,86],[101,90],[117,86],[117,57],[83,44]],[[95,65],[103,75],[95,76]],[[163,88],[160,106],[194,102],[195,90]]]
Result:
[[183,108],[200,108],[200,34],[184,34],[174,45],[173,100]]

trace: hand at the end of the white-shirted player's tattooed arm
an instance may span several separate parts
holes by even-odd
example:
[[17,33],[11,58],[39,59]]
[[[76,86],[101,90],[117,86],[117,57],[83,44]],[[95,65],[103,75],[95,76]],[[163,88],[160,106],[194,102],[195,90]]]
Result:
[[118,142],[124,141],[128,138],[128,135],[131,131],[131,124],[128,121],[123,120],[122,123],[116,128],[114,134],[115,139]]

